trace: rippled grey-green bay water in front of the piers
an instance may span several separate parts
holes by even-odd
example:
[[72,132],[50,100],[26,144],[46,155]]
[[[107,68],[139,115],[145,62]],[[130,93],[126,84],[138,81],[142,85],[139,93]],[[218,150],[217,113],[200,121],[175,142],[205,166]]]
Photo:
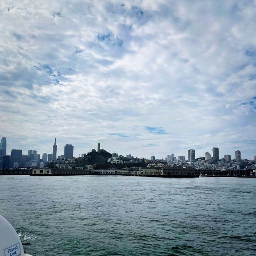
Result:
[[0,176],[33,256],[256,255],[256,179]]

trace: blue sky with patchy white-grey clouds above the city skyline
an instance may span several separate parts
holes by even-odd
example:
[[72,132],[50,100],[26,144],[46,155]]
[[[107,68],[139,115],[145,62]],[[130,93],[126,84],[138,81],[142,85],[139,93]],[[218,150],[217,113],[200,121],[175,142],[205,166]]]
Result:
[[0,2],[7,154],[256,155],[256,1]]

